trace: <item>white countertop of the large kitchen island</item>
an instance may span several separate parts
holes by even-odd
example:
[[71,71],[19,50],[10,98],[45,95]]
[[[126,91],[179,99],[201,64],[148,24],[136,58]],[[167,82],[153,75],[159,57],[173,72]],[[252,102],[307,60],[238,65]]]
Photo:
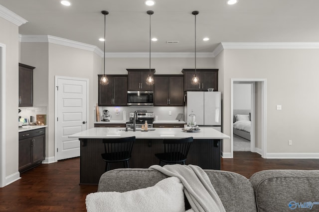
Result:
[[[139,129],[139,128],[138,128]],[[200,128],[195,133],[187,133],[181,128],[151,128],[155,131],[123,131],[125,128],[91,128],[89,130],[73,134],[68,138],[102,139],[102,138],[125,138],[135,136],[137,139],[181,139],[193,137],[194,139],[230,139],[229,136],[212,128]]]

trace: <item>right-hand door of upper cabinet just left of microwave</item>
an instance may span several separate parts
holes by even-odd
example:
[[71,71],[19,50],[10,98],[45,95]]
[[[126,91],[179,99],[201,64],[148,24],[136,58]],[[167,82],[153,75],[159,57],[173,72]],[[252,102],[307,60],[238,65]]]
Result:
[[116,76],[113,80],[113,106],[127,106],[128,105],[128,77]]

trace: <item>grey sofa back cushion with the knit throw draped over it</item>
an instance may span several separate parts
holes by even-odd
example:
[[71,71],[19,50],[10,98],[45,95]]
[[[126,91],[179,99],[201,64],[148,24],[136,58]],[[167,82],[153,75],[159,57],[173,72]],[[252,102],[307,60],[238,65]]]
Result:
[[[254,190],[244,176],[228,171],[204,170],[226,212],[256,212]],[[154,186],[167,176],[159,171],[141,168],[114,169],[105,172],[99,181],[99,192],[126,192]],[[187,203],[186,203],[187,204]]]

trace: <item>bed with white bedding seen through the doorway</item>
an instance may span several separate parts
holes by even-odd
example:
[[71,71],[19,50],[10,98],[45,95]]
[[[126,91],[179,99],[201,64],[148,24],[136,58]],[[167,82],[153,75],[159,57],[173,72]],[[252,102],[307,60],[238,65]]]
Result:
[[250,110],[234,110],[234,135],[250,141]]

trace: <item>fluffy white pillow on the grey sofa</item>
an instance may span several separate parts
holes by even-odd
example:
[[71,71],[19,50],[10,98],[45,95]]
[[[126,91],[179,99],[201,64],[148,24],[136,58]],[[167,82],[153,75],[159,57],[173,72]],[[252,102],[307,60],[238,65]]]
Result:
[[185,212],[183,188],[177,177],[168,177],[144,189],[91,193],[85,204],[88,212]]

